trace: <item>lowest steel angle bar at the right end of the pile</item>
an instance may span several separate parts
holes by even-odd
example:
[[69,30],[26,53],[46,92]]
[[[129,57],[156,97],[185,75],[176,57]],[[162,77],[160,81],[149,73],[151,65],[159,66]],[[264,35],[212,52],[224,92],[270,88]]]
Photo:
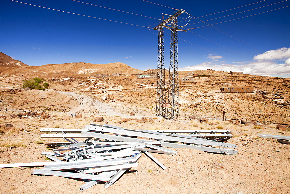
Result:
[[201,150],[204,152],[214,152],[214,153],[223,153],[223,154],[238,154],[237,150],[230,150],[230,149],[222,149],[222,148],[212,148],[212,147],[200,147],[200,146],[192,146],[180,143],[168,143],[162,142],[163,147],[167,148],[190,148],[195,150]]

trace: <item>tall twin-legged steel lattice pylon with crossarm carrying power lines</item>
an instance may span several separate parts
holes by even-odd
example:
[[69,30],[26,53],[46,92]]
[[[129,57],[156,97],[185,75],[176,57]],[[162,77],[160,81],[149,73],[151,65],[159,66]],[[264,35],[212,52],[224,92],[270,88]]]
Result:
[[[186,31],[177,28],[177,17],[184,13],[179,10],[154,29],[158,30],[158,59],[157,59],[157,97],[156,115],[166,119],[177,119],[179,115],[179,94],[178,94],[178,51],[177,51],[177,31]],[[166,26],[166,24],[171,26]],[[164,34],[163,28],[171,30],[169,83],[166,96],[165,66],[164,66]]]

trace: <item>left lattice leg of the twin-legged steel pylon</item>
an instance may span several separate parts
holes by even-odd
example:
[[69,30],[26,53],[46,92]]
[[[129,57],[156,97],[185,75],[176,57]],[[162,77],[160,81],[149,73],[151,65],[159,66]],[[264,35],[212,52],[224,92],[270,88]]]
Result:
[[158,59],[157,59],[157,99],[156,115],[166,115],[165,66],[164,66],[164,35],[163,26],[158,27]]

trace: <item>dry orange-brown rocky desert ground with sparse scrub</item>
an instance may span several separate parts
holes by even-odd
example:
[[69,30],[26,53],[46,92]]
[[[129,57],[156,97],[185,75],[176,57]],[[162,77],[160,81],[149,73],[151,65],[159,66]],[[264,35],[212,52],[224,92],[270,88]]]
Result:
[[[154,71],[154,70],[149,70]],[[52,152],[44,143],[63,139],[41,139],[40,128],[83,128],[103,117],[110,125],[128,129],[231,129],[228,143],[238,145],[237,155],[171,148],[177,155],[153,153],[163,170],[142,155],[139,166],[131,168],[108,189],[97,184],[84,192],[79,179],[32,175],[32,169],[0,169],[1,193],[290,193],[290,145],[276,139],[259,138],[258,133],[290,136],[290,79],[267,76],[229,76],[214,70],[195,71],[195,83],[181,82],[180,116],[166,120],[156,116],[156,80],[122,75],[100,78],[91,73],[43,74],[49,88],[22,89],[21,76],[0,73],[0,163],[40,162]],[[180,72],[183,77],[186,72]],[[216,77],[213,77],[216,76]],[[218,93],[222,86],[254,87],[255,93]],[[264,91],[257,92],[258,91]],[[80,99],[82,98],[82,99]],[[83,101],[85,100],[85,101]],[[7,108],[7,111],[5,110]],[[226,121],[223,121],[223,111]],[[134,112],[135,116],[130,116]],[[71,114],[80,114],[73,118]],[[137,122],[136,118],[147,118]],[[123,118],[127,121],[121,122]],[[209,122],[200,123],[201,118]],[[254,121],[243,125],[241,120]],[[124,121],[124,120],[123,120]],[[285,128],[276,128],[285,124]],[[214,168],[220,163],[224,168]],[[149,170],[149,171],[148,171]]]

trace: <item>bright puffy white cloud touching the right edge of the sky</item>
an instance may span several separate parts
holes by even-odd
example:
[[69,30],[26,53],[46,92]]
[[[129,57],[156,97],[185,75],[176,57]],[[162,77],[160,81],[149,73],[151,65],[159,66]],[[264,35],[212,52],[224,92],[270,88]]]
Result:
[[253,60],[275,60],[290,57],[290,48],[278,48],[276,50],[266,51],[263,54],[254,56]]

